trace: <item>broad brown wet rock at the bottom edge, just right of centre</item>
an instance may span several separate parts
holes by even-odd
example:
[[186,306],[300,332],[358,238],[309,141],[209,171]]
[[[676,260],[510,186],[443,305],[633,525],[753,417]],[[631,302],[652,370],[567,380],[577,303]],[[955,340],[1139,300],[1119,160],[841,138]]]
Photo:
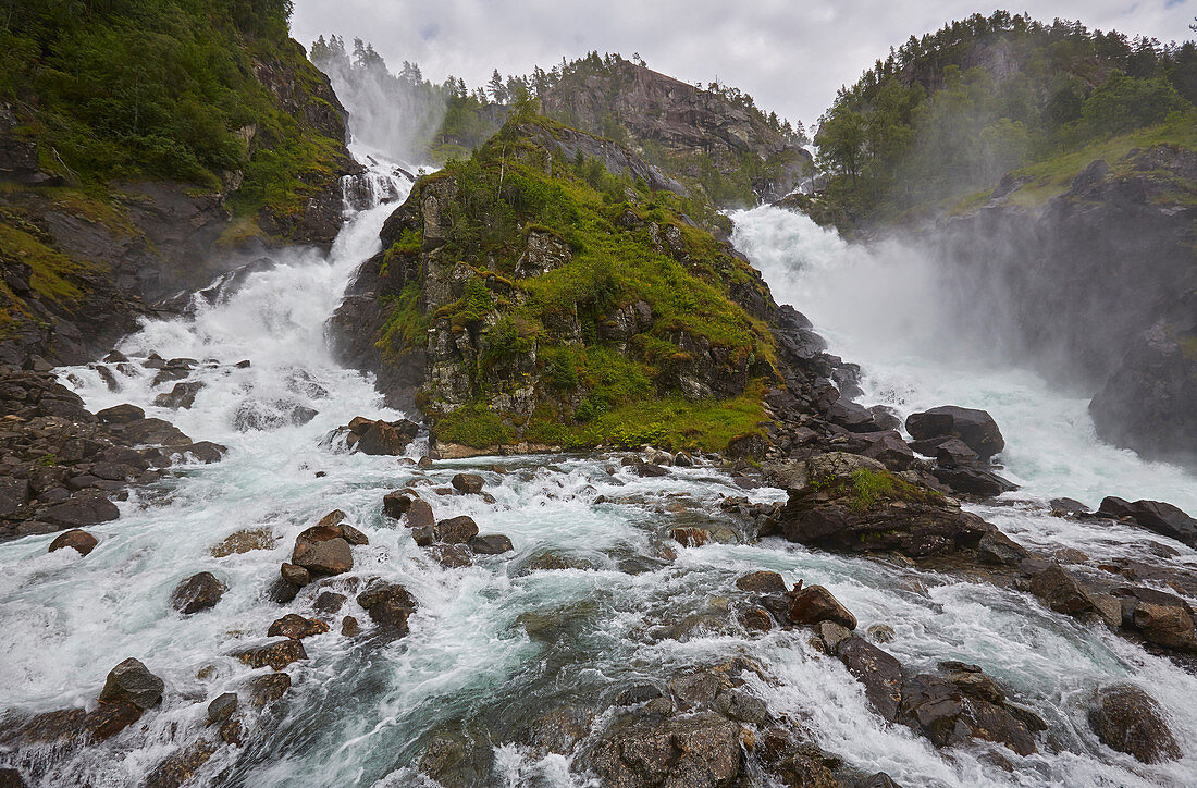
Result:
[[604,784],[725,787],[740,775],[740,727],[703,713],[660,722],[616,720],[590,757]]

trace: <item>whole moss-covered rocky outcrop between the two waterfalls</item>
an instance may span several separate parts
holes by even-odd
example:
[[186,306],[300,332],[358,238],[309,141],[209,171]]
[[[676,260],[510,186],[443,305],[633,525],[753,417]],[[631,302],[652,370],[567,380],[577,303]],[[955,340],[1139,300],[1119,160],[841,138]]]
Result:
[[609,140],[509,122],[388,219],[333,321],[345,360],[418,406],[443,456],[724,449],[764,432],[773,387],[819,378],[830,405],[807,326],[670,183]]

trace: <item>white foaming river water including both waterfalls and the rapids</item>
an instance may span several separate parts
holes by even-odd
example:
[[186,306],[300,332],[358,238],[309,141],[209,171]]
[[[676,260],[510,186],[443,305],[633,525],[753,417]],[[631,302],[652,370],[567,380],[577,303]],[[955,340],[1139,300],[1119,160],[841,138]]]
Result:
[[[378,177],[388,177],[384,168]],[[401,194],[407,189],[395,186]],[[780,490],[746,493],[704,467],[640,479],[619,467],[610,472],[612,460],[603,457],[480,459],[419,469],[330,445],[324,437],[354,416],[400,416],[381,405],[371,381],[335,363],[324,337],[353,271],[378,249],[378,230],[393,208],[354,213],[327,256],[280,253],[273,268],[251,274],[227,298],[199,304],[188,317],[147,322],[120,345],[134,365],[119,376],[117,390],[93,369],[66,370],[62,380],[91,410],[134,402],[230,451],[121,504],[119,521],[92,529],[101,542],[86,558],[71,550],[47,554],[53,537],[0,545],[0,707],[36,713],[93,704],[107,672],[128,656],[166,681],[160,710],[103,746],[55,762],[43,784],[136,784],[194,740],[207,702],[237,691],[253,673],[227,654],[263,640],[286,612],[262,595],[294,537],[333,509],[346,511],[370,538],[356,548],[353,574],[401,582],[418,600],[411,634],[384,645],[342,637],[336,626],[306,638],[310,659],[290,667],[294,684],[284,701],[251,725],[244,747],[213,756],[196,784],[430,784],[415,764],[430,738],[444,733],[488,752],[490,774],[479,784],[597,784],[571,770],[567,757],[531,748],[531,721],[566,703],[609,701],[631,683],[661,681],[737,655],[755,659],[772,677],[754,679],[749,689],[774,714],[801,720],[824,748],[862,770],[887,771],[907,788],[1191,783],[1197,679],[1023,594],[776,540],[748,544],[743,526],[718,508],[724,496],[780,501]],[[978,511],[1015,539],[1094,557],[1137,556],[1150,541],[1167,541],[1050,517],[1043,502],[1056,495],[1089,504],[1111,493],[1156,497],[1197,509],[1192,477],[1099,444],[1083,400],[1053,394],[1017,371],[973,370],[959,357],[875,343],[886,319],[897,321],[886,337],[912,320],[882,311],[883,261],[779,211],[741,213],[736,222],[737,243],[777,299],[807,313],[834,352],[862,364],[869,404],[905,414],[952,402],[995,414],[1009,444],[1008,473],[1025,486],[1011,496],[1014,505]],[[855,296],[858,309],[845,295]],[[135,362],[152,352],[212,359],[193,372],[205,387],[190,410],[153,406],[174,381],[151,386],[153,371]],[[250,365],[237,366],[243,359]],[[290,423],[297,408],[317,416]],[[496,462],[505,469],[492,469]],[[494,503],[431,495],[436,515],[468,514],[484,533],[509,535],[515,553],[444,569],[407,529],[384,521],[381,502],[409,484],[443,486],[463,467],[485,477]],[[661,559],[669,529],[685,525],[718,531],[722,541]],[[266,528],[275,546],[211,553],[245,528]],[[1173,560],[1197,563],[1193,551],[1169,544],[1181,553]],[[545,553],[572,568],[529,571]],[[1056,752],[1020,758],[1005,751],[1014,764],[1007,771],[979,745],[937,751],[907,728],[882,722],[840,662],[807,644],[808,632],[747,638],[734,624],[721,624],[739,594],[735,578],[758,569],[779,571],[788,582],[826,584],[862,629],[891,625],[897,637],[886,648],[909,668],[934,671],[947,659],[980,665],[1051,723]],[[221,577],[229,592],[211,611],[183,618],[170,608],[170,593],[203,570]],[[332,588],[348,593],[346,581]],[[311,601],[309,588],[287,610],[311,614]],[[363,618],[352,601],[345,612]],[[1147,766],[1096,741],[1084,721],[1088,696],[1101,681],[1126,678],[1166,708],[1187,753],[1183,760]]]

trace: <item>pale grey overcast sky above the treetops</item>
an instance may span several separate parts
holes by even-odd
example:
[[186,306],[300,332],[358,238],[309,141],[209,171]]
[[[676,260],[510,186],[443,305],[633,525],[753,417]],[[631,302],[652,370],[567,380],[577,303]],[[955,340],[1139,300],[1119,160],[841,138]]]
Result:
[[[994,5],[960,0],[294,0],[292,35],[305,47],[335,32],[359,37],[397,71],[403,60],[426,78],[463,77],[473,87],[504,74],[548,68],[591,49],[631,56],[686,81],[716,78],[748,91],[759,107],[812,126],[845,83],[912,34]],[[1191,38],[1197,0],[1025,0],[1050,22]]]

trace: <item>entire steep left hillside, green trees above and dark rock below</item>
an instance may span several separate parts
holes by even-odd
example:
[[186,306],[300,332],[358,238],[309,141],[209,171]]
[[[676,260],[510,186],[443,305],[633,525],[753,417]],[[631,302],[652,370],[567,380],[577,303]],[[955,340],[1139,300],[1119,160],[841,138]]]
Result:
[[83,360],[225,257],[327,246],[354,171],[290,4],[12,6],[0,28],[2,359]]

